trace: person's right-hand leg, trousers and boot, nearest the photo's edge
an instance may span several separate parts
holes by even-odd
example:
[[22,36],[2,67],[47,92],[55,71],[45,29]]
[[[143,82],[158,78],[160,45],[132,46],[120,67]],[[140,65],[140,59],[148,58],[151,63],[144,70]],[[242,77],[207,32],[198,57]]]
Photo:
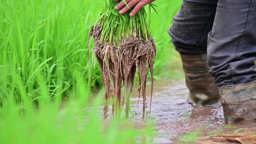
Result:
[[208,65],[229,123],[256,122],[256,0],[219,0]]

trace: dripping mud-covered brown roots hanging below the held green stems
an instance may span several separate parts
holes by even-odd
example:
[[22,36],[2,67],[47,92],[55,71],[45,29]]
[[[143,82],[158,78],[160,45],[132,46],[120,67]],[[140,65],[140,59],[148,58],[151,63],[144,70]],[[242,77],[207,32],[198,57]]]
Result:
[[[134,83],[136,70],[140,80],[140,90],[143,97],[143,118],[146,104],[146,82],[147,74],[151,73],[151,98],[153,91],[153,65],[155,62],[156,46],[149,37],[147,40],[139,36],[129,36],[123,38],[119,46],[113,42],[101,41],[101,25],[91,28],[89,37],[94,37],[94,56],[97,58],[101,68],[102,80],[106,95],[104,96],[104,119],[107,118],[110,98],[112,97],[112,113],[120,117],[122,107],[126,102],[125,118],[129,116],[129,99]],[[121,86],[124,85],[124,92],[121,94]],[[122,95],[122,96],[121,96]],[[151,110],[150,98],[150,110]]]

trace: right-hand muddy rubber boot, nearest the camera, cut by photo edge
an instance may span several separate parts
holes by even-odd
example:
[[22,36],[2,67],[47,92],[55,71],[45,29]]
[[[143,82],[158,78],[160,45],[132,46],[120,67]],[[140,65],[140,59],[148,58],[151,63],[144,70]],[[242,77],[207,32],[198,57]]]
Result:
[[229,124],[256,122],[256,81],[220,86],[220,97]]

